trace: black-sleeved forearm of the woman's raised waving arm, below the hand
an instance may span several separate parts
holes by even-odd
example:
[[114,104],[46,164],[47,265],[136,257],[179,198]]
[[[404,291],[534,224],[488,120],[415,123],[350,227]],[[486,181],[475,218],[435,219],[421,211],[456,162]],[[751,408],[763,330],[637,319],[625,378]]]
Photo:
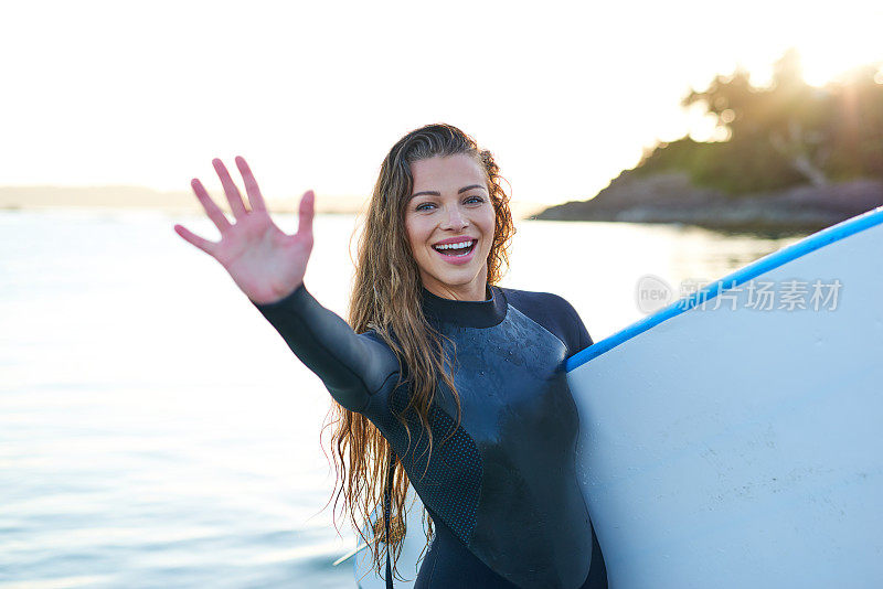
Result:
[[389,347],[357,334],[343,319],[319,304],[304,285],[279,301],[252,303],[348,409],[364,409],[370,395],[398,371]]

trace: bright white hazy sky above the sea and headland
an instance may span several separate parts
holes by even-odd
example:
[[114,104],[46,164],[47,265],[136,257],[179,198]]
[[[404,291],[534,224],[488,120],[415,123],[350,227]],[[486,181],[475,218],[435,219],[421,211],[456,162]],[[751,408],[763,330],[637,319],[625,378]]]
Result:
[[711,127],[680,100],[790,46],[821,85],[883,60],[880,2],[6,2],[0,185],[217,186],[244,156],[268,199],[368,195],[407,131],[449,122],[512,197],[584,200],[659,140]]

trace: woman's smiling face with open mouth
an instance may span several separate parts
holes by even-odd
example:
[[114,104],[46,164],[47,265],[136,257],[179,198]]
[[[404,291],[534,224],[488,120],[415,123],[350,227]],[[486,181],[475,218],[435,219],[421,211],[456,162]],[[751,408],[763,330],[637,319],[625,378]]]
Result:
[[423,286],[446,299],[485,300],[496,218],[485,171],[458,153],[413,162],[411,174],[405,229]]

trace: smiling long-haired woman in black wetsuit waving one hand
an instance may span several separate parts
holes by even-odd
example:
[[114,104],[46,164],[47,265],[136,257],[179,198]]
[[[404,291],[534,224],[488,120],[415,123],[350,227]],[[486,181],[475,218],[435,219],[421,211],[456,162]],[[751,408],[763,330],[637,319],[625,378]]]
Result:
[[[330,390],[339,493],[353,521],[383,504],[389,531],[409,482],[435,532],[415,587],[606,587],[563,371],[592,339],[564,299],[496,286],[514,229],[491,153],[449,125],[392,148],[359,244],[349,324],[304,286],[313,193],[286,235],[236,164],[252,210],[215,160],[235,224],[193,180],[221,242],[175,231],[227,269]],[[401,537],[386,535],[395,554]],[[384,558],[391,586],[387,551],[374,550],[377,567]]]

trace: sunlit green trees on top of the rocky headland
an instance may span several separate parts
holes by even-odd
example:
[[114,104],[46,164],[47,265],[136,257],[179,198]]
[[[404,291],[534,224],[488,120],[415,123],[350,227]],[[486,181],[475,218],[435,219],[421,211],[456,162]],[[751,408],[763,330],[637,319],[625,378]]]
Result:
[[696,184],[734,195],[883,178],[881,82],[879,67],[865,66],[815,88],[804,81],[796,50],[776,62],[766,88],[752,85],[748,73],[737,68],[682,101],[684,108],[700,105],[714,116],[728,139],[705,143],[684,137],[660,143],[645,154],[636,173],[683,170]]

